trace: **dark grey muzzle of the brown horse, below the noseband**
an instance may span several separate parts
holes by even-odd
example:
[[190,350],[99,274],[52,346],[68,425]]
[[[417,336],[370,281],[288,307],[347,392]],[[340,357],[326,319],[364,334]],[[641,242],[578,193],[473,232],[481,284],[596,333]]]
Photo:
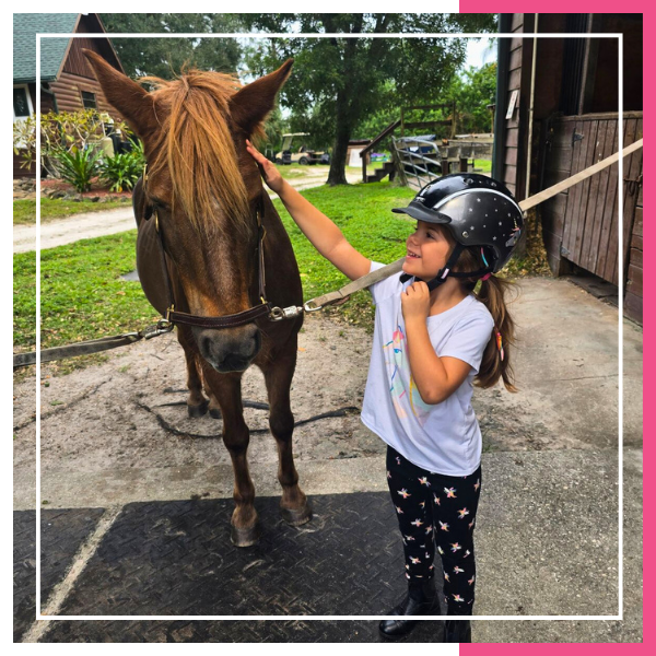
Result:
[[200,354],[221,374],[244,372],[262,345],[254,324],[221,330],[194,329]]

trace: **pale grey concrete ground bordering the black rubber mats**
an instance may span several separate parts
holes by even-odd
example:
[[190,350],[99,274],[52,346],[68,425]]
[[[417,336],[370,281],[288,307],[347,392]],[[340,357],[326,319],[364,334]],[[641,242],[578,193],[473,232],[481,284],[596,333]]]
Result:
[[[557,622],[477,620],[473,640],[640,642],[642,331],[634,324],[622,321],[624,408],[620,450],[617,309],[567,280],[529,279],[523,282],[523,288],[522,296],[513,306],[519,336],[515,367],[520,393],[509,395],[493,388],[476,395],[487,445],[484,494],[477,534],[480,565],[476,612],[487,617],[567,616],[573,619]],[[307,329],[309,344],[312,321]],[[321,325],[321,329],[328,328]],[[620,453],[624,519],[621,561],[618,551]],[[251,475],[258,496],[277,496],[279,487],[273,460],[260,459],[256,454]],[[382,453],[345,459],[303,459],[297,467],[305,491],[313,496],[384,494],[386,489]],[[55,476],[44,484],[48,489],[49,508],[105,508],[103,517],[107,526],[101,530],[97,548],[105,539],[103,531],[110,532],[112,524],[128,503],[188,500],[206,489],[211,490],[212,499],[232,495],[229,465],[207,464],[176,471],[177,475],[172,476],[175,472],[171,469],[147,468],[132,471],[126,478],[125,470],[95,473],[72,470],[68,477]],[[72,487],[71,481],[74,481]],[[34,507],[33,484],[33,477],[19,472],[14,487],[16,509]],[[112,507],[108,508],[107,503]],[[98,525],[102,522],[101,518]],[[329,531],[326,532],[328,538]],[[73,561],[81,559],[78,567],[82,572],[94,553],[94,548],[91,549],[91,553],[81,549],[73,557]],[[623,620],[575,619],[620,612],[617,587],[620,564],[624,575]],[[389,573],[390,584],[400,594],[402,583],[397,578]],[[77,588],[89,585],[83,574],[79,581],[73,577],[65,584],[59,601],[57,595],[52,597],[55,601],[50,598],[50,611],[61,608]],[[336,608],[335,613],[341,614],[340,609]],[[36,636],[48,642],[55,624],[38,622],[24,639]],[[359,635],[362,637],[361,624]],[[97,626],[93,631],[97,632]],[[219,641],[220,634],[206,637]],[[112,635],[108,640],[118,640],[119,634]],[[312,632],[307,635],[308,641],[313,640],[312,635]],[[77,640],[81,640],[79,634]],[[231,640],[241,642],[243,637],[233,635]]]

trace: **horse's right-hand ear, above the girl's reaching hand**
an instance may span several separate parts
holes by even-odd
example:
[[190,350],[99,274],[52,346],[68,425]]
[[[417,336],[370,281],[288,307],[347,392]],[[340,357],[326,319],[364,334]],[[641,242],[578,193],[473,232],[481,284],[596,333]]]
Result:
[[276,94],[292,72],[293,59],[288,59],[277,71],[246,84],[230,99],[233,120],[251,134],[273,109]]

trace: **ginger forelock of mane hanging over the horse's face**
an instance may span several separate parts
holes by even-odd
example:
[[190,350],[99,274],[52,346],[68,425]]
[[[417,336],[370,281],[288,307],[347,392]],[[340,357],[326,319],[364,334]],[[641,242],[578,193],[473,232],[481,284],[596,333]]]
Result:
[[[253,230],[246,187],[229,127],[232,95],[242,86],[234,75],[184,71],[175,80],[147,77],[162,130],[151,173],[168,167],[173,202],[180,203],[197,230],[208,229],[219,214],[218,202],[235,227]],[[206,230],[203,230],[204,232]]]

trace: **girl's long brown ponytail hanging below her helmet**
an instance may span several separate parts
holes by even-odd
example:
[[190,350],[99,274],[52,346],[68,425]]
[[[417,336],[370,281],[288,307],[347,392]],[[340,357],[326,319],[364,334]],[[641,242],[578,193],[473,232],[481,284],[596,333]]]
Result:
[[[448,229],[442,227],[442,232],[452,246],[455,246],[456,243]],[[478,271],[484,268],[485,262],[483,261],[481,247],[476,246],[462,250],[454,271]],[[488,388],[495,385],[500,378],[503,378],[503,384],[508,391],[517,391],[511,364],[513,347],[515,345],[515,323],[511,317],[507,305],[511,294],[514,294],[515,297],[518,295],[518,285],[506,278],[494,274],[487,280],[480,280],[478,277],[458,278],[456,280],[460,282],[467,292],[472,293],[476,298],[483,303],[494,319],[494,328],[483,351],[479,373],[475,377],[475,385]],[[503,360],[502,351],[497,344],[497,332],[501,336]]]

